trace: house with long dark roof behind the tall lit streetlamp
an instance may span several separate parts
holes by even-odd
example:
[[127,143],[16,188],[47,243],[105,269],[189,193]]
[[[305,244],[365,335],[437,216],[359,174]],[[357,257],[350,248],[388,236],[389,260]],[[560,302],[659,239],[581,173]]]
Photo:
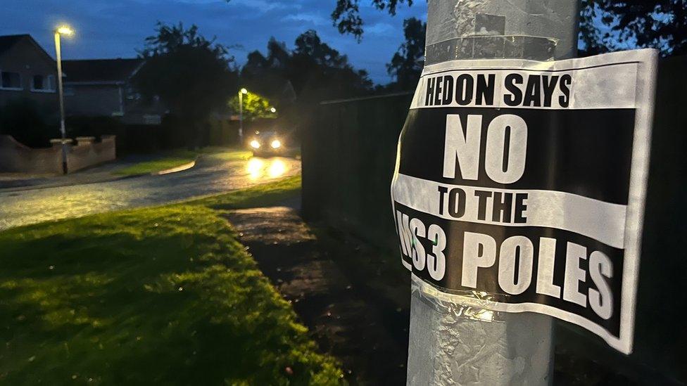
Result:
[[160,124],[165,108],[145,101],[131,79],[141,58],[63,60],[65,110],[68,116],[118,117],[125,124]]

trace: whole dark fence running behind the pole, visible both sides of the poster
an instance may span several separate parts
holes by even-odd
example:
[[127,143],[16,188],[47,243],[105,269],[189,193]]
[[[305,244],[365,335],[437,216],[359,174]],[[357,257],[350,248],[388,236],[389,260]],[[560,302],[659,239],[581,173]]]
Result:
[[[560,323],[557,368],[597,368],[619,377],[601,380],[614,384],[687,382],[686,90],[687,56],[661,60],[634,354],[618,354],[591,333]],[[389,188],[410,98],[395,94],[319,106],[303,131],[307,219],[398,252]]]

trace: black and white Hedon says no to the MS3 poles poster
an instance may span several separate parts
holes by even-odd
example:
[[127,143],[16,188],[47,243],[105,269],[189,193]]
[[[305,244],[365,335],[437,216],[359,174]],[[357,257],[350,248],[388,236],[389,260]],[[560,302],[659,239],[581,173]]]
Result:
[[403,264],[631,352],[656,58],[425,67],[391,186]]

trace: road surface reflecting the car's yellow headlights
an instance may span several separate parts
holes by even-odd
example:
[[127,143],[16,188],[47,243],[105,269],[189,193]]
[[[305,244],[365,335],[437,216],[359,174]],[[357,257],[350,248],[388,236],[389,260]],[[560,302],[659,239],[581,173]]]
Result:
[[0,230],[42,221],[81,217],[130,207],[161,205],[198,195],[247,188],[301,172],[301,161],[286,157],[223,161],[201,157],[196,167],[160,176],[118,181],[0,191]]

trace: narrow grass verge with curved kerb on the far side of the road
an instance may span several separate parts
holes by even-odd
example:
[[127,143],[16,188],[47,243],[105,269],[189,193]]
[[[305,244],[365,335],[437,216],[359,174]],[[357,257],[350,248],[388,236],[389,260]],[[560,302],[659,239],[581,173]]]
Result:
[[252,153],[248,150],[237,150],[227,148],[203,148],[198,151],[192,150],[173,150],[160,155],[159,158],[150,161],[139,162],[135,165],[119,169],[114,174],[120,176],[132,176],[138,174],[151,174],[163,170],[179,167],[196,160],[198,155],[208,155],[217,160],[247,160]]

